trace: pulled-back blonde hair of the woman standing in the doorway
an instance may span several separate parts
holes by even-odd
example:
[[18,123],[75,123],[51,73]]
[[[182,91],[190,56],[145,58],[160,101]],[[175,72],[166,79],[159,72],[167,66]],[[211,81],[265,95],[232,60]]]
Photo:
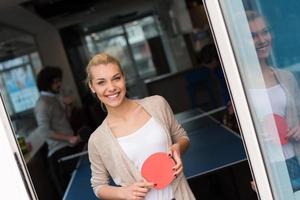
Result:
[[92,67],[97,65],[107,65],[107,64],[117,65],[120,68],[121,73],[124,74],[118,59],[116,59],[115,57],[107,53],[98,53],[92,57],[92,59],[89,61],[88,65],[86,66],[85,69],[87,75],[86,83],[88,84],[92,80],[92,76],[91,76]]

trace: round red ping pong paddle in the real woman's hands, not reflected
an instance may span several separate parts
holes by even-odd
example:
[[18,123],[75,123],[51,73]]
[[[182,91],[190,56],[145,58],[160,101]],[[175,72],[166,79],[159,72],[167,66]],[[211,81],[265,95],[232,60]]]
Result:
[[142,176],[151,183],[155,189],[163,189],[174,179],[174,159],[167,153],[158,152],[150,155],[142,166]]

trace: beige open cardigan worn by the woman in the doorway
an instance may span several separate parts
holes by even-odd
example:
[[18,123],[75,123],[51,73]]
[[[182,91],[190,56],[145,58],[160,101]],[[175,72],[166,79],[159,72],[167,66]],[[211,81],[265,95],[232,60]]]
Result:
[[[163,97],[146,97],[137,100],[137,103],[168,133],[169,146],[181,137],[188,138],[184,129],[176,121],[169,104]],[[108,127],[107,118],[91,135],[88,152],[92,170],[91,184],[96,195],[102,185],[109,184],[109,175],[114,180],[117,180],[116,184],[121,186],[143,180],[140,171],[128,159],[117,139],[113,136]],[[172,182],[172,188],[176,200],[195,199],[183,173]]]

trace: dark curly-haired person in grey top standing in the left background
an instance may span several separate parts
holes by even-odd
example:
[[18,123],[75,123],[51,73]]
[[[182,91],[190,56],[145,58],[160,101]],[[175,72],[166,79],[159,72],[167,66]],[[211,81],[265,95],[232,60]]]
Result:
[[59,163],[59,159],[81,151],[80,137],[75,135],[68,117],[70,98],[65,101],[59,95],[62,83],[62,70],[58,67],[44,67],[37,76],[40,91],[34,113],[39,133],[48,145],[48,160],[52,179],[62,196],[76,161]]

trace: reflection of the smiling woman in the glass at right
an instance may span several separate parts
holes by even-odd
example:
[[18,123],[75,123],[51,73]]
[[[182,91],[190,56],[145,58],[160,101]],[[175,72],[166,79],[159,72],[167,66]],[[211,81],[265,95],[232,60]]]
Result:
[[255,11],[246,11],[246,16],[265,83],[263,88],[251,88],[249,91],[262,123],[264,145],[269,148],[267,156],[275,170],[285,161],[292,189],[297,191],[300,189],[300,165],[296,151],[300,139],[297,119],[300,112],[297,106],[299,87],[290,72],[278,69],[270,59],[273,36],[266,19]]

